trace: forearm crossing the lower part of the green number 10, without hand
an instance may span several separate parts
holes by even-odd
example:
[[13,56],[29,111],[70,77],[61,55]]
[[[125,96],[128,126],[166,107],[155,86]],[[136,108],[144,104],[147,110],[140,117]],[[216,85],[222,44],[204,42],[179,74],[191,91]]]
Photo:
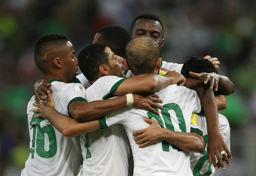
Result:
[[204,138],[197,133],[182,133],[163,128],[162,140],[189,152],[203,152]]

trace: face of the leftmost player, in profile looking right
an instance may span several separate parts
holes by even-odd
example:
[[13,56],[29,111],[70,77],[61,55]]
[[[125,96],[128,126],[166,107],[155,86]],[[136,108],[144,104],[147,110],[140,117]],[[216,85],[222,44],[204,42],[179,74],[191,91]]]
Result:
[[74,56],[75,52],[73,49],[73,45],[68,41],[66,43],[65,50],[63,52],[63,69],[65,69],[66,76],[65,78],[67,79],[67,83],[71,83],[75,81],[75,78],[77,76],[77,70],[78,70],[78,61],[76,57]]

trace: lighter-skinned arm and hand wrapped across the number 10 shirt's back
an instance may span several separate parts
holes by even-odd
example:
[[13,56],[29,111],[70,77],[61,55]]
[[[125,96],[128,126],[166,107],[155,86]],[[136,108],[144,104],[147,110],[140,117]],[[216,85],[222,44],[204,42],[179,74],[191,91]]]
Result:
[[145,117],[144,121],[151,125],[133,133],[135,143],[139,144],[139,147],[145,147],[164,140],[184,151],[199,153],[203,152],[205,149],[204,138],[195,132],[182,133],[172,131],[162,128],[156,120]]

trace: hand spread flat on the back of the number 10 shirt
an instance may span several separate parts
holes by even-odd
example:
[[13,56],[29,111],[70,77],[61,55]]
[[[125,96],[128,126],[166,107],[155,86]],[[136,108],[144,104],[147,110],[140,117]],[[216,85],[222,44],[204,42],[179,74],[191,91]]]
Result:
[[140,148],[162,141],[161,133],[163,128],[158,122],[146,117],[143,117],[143,119],[145,122],[149,123],[150,126],[132,133],[132,135],[135,136],[135,143],[139,144]]

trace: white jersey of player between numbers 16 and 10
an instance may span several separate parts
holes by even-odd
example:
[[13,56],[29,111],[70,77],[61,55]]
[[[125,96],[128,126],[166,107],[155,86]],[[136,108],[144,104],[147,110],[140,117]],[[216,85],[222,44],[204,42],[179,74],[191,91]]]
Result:
[[[87,101],[108,99],[108,95],[125,79],[115,76],[99,78],[86,89]],[[79,176],[128,176],[130,146],[121,124],[80,135],[80,142],[83,167]]]

